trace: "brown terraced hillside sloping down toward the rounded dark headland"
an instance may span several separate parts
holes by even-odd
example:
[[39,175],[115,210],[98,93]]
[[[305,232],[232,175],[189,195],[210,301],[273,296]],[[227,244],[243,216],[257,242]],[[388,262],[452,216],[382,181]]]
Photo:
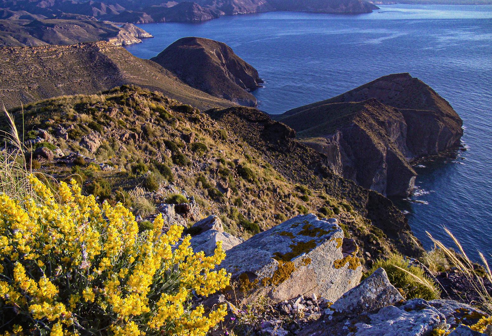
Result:
[[70,46],[0,48],[0,100],[18,106],[64,94],[92,94],[136,84],[199,108],[230,101],[193,89],[157,63],[134,57],[109,42]]

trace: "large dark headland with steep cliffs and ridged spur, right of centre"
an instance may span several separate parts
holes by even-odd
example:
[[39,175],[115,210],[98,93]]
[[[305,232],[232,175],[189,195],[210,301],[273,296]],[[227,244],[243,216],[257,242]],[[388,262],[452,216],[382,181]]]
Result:
[[457,146],[462,135],[449,103],[407,73],[277,118],[327,155],[339,175],[385,195],[408,195],[416,177],[409,161]]

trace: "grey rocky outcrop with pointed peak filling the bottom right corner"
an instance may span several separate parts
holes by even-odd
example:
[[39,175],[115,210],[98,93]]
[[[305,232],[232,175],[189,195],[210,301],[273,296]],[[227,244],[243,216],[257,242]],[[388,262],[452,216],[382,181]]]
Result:
[[487,314],[452,300],[405,302],[380,268],[325,309],[316,322],[298,335],[427,336],[437,328],[453,330],[457,327],[457,335],[461,335],[466,329],[460,325],[472,325],[482,316]]

